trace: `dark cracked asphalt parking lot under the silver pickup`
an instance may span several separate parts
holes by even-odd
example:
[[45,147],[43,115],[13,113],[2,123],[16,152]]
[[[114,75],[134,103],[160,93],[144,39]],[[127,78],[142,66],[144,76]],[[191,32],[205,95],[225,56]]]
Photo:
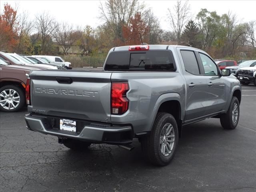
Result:
[[218,119],[185,126],[166,167],[106,144],[73,152],[54,136],[25,128],[26,108],[0,113],[1,192],[256,191],[256,87],[242,87],[240,121],[223,130]]

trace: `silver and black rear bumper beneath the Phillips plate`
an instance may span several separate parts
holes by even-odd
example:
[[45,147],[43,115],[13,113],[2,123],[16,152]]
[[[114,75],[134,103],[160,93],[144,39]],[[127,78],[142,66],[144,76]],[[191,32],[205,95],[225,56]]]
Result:
[[108,143],[126,145],[132,143],[133,131],[131,126],[110,126],[91,123],[83,126],[80,132],[53,129],[47,117],[25,115],[26,128],[42,134],[50,134],[61,138],[72,138],[91,143]]

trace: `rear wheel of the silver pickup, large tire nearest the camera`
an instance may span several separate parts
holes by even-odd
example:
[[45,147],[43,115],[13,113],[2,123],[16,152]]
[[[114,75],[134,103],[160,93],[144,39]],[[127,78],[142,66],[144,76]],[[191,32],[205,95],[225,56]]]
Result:
[[[170,125],[172,127],[169,127]],[[165,129],[170,131],[170,138],[162,136],[166,134]],[[158,113],[151,133],[141,140],[142,152],[152,164],[166,166],[175,155],[178,138],[178,125],[175,118],[169,113]],[[168,142],[168,140],[174,142]],[[164,153],[166,154],[163,154],[161,151],[163,150],[161,147],[165,144],[164,142],[167,143],[165,145],[166,148],[164,147]]]

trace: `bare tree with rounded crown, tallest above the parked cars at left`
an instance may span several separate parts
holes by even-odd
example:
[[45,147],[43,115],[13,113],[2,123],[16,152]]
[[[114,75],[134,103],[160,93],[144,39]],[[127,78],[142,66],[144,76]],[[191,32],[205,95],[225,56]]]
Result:
[[42,38],[42,54],[46,53],[46,45],[51,40],[55,28],[55,20],[44,12],[36,16],[36,28]]

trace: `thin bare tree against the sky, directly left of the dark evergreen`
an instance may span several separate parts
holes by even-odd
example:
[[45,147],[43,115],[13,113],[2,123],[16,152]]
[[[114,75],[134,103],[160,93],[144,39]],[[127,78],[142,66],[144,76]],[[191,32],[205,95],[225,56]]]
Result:
[[173,8],[168,8],[168,11],[170,26],[177,36],[178,43],[180,43],[182,30],[190,19],[190,5],[188,4],[188,0],[185,2],[178,0]]

